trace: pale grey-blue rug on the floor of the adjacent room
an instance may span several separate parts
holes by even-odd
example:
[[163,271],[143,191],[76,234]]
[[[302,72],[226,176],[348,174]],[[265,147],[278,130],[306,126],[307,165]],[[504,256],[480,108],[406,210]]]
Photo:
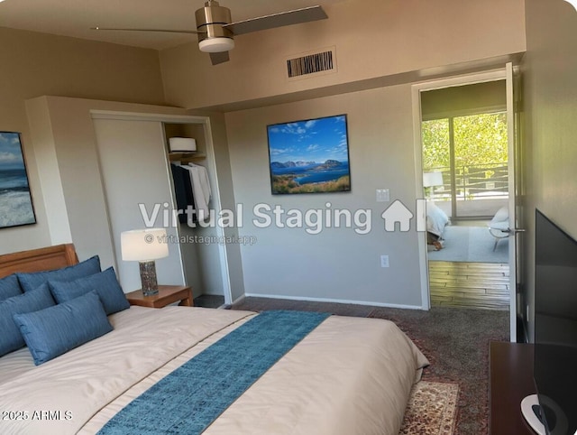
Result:
[[445,228],[443,238],[440,251],[429,245],[430,261],[508,263],[508,238],[499,239],[493,251],[496,239],[490,235],[488,227],[452,225]]

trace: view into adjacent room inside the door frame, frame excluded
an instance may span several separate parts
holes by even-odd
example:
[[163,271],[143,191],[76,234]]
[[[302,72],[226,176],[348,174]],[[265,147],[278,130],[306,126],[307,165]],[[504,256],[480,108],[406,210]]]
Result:
[[423,184],[438,208],[428,218],[448,224],[428,245],[432,305],[509,308],[508,238],[490,230],[508,205],[505,96],[504,80],[421,94]]

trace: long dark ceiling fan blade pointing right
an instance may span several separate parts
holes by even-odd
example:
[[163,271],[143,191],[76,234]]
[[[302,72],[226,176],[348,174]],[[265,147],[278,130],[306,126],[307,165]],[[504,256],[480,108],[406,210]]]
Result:
[[231,30],[235,35],[273,29],[284,25],[307,23],[309,21],[328,18],[321,6],[309,6],[279,14],[265,15],[237,23],[224,24],[224,28]]

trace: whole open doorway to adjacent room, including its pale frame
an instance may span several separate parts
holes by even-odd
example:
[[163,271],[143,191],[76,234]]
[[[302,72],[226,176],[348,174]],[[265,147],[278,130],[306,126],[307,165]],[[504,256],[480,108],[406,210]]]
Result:
[[515,337],[512,66],[413,90],[426,199],[427,232],[419,242],[424,299],[429,307],[508,310]]

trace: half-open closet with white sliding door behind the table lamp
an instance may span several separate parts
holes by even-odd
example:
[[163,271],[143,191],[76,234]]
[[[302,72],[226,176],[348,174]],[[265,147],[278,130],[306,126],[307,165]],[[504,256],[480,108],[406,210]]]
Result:
[[[100,171],[114,242],[116,271],[124,291],[140,288],[138,264],[124,262],[120,234],[151,225],[166,227],[169,257],[156,261],[159,283],[186,284],[193,296],[210,306],[230,303],[230,282],[223,229],[188,226],[173,218],[178,209],[171,164],[193,163],[206,168],[211,199],[220,209],[214,150],[205,116],[92,115]],[[194,138],[196,153],[169,153],[170,137]]]

